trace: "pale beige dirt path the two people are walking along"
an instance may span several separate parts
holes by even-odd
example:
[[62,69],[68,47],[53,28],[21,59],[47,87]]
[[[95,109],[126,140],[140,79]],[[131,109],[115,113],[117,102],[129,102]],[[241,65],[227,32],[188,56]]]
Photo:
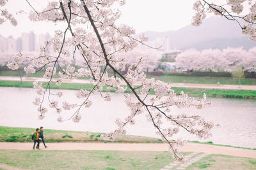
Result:
[[[32,143],[0,143],[0,150],[31,150]],[[168,151],[168,145],[162,143],[47,143],[42,150],[121,150],[121,151]],[[204,152],[256,159],[256,150],[225,146],[187,143],[180,147],[181,152]]]

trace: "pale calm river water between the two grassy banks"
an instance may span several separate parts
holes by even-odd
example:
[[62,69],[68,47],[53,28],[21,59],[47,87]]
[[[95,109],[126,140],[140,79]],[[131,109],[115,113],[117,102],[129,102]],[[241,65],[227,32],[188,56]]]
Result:
[[[79,102],[73,90],[61,90],[63,97],[70,103]],[[99,94],[93,94],[93,105],[81,110],[82,119],[78,124],[71,120],[57,122],[58,115],[48,107],[44,120],[38,120],[38,111],[32,104],[36,97],[34,89],[0,87],[0,125],[10,127],[40,127],[45,129],[63,129],[70,131],[111,132],[116,128],[116,118],[125,118],[129,110],[124,103],[124,94],[111,94],[111,102],[105,102]],[[256,100],[209,98],[211,107],[178,109],[173,113],[193,113],[211,120],[220,127],[212,129],[212,137],[200,140],[185,131],[180,131],[173,139],[182,138],[190,141],[212,141],[221,145],[256,148]],[[60,101],[60,103],[62,103]],[[74,110],[64,111],[63,118],[68,118]],[[127,126],[127,134],[157,137],[153,125],[147,122],[145,113],[135,118],[135,125]]]

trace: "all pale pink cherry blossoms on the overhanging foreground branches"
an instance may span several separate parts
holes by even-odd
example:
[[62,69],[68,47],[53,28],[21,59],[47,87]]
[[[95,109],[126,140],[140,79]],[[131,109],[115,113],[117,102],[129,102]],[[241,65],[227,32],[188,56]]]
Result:
[[[29,5],[29,0],[26,0]],[[7,2],[8,3],[8,2]],[[156,1],[156,3],[159,3]],[[243,11],[244,3],[248,3],[247,14]],[[0,24],[10,20],[13,25],[19,24],[15,18],[4,9],[6,1],[0,0],[1,17]],[[147,120],[156,128],[157,134],[165,139],[170,146],[174,157],[183,160],[179,155],[179,145],[182,140],[172,141],[173,134],[177,134],[180,129],[187,131],[198,138],[208,138],[211,136],[211,129],[214,124],[204,118],[188,114],[173,113],[172,106],[178,108],[196,107],[204,108],[206,103],[205,95],[200,99],[188,97],[184,93],[179,95],[170,89],[169,83],[146,78],[142,71],[143,59],[134,60],[125,75],[121,71],[125,67],[125,53],[131,51],[138,44],[146,45],[145,38],[141,35],[134,38],[135,31],[132,27],[124,24],[117,24],[121,12],[116,9],[116,4],[124,5],[124,0],[60,0],[50,1],[44,10],[38,11],[31,5],[29,18],[33,22],[46,21],[56,24],[65,23],[63,29],[56,30],[51,41],[47,41],[41,47],[41,52],[35,56],[26,56],[19,53],[13,57],[13,62],[8,64],[11,69],[17,69],[21,63],[28,64],[24,67],[27,73],[45,71],[44,78],[47,83],[44,85],[35,82],[34,87],[38,94],[34,104],[38,106],[39,118],[45,117],[47,106],[50,104],[50,111],[56,111],[60,115],[59,122],[72,119],[79,122],[81,117],[86,118],[86,108],[92,105],[90,97],[94,93],[99,93],[106,101],[111,101],[111,94],[102,92],[104,86],[114,89],[115,92],[122,93],[126,89],[131,89],[131,94],[125,94],[125,102],[130,110],[130,115],[124,120],[116,119],[117,129],[101,137],[107,140],[115,140],[118,134],[125,133],[125,125],[134,124],[134,117],[145,114]],[[15,8],[13,6],[12,8]],[[141,9],[147,8],[147,4]],[[179,7],[177,7],[179,8]],[[182,6],[180,6],[182,10]],[[212,4],[208,1],[195,1],[193,8],[196,15],[193,17],[193,25],[200,25],[207,14],[220,15],[228,20],[234,20],[244,34],[250,34],[251,39],[255,40],[255,1],[251,0],[227,0],[220,1],[219,4]],[[156,13],[157,15],[157,13]],[[161,17],[161,16],[159,16]],[[172,16],[170,16],[172,17]],[[177,16],[176,16],[177,17]],[[189,16],[188,16],[189,17]],[[240,25],[239,20],[246,22]],[[69,49],[73,52],[70,53]],[[49,55],[47,50],[51,50]],[[79,62],[78,69],[73,66],[61,65],[61,60],[68,57]],[[57,71],[58,69],[58,71]],[[109,76],[108,70],[114,75]],[[58,72],[58,73],[57,73]],[[60,78],[54,79],[52,76],[59,74]],[[83,99],[81,103],[65,101],[62,106],[58,104],[58,98],[62,92],[52,91],[52,83],[61,85],[65,79],[76,79],[88,77],[94,85],[91,90],[77,90],[76,96]],[[138,82],[140,85],[138,85]],[[125,86],[123,86],[125,84]],[[149,95],[154,91],[155,95]],[[68,100],[68,97],[67,97]],[[68,110],[70,117],[63,118],[62,110]],[[118,115],[116,115],[118,117]],[[163,119],[169,122],[169,127],[163,127]]]

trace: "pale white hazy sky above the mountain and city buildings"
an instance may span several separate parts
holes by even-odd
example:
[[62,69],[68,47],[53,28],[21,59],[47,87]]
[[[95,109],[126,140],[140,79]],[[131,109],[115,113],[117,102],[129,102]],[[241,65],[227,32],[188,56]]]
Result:
[[[47,0],[29,0],[36,10],[47,4]],[[136,32],[170,31],[189,25],[195,11],[194,1],[188,0],[127,0],[120,10],[123,15],[120,23],[131,25]],[[9,22],[0,25],[0,34],[3,36],[20,36],[21,32],[34,31],[36,34],[52,33],[54,24],[50,22],[31,22],[27,15],[16,15],[19,10],[30,11],[31,7],[25,0],[9,0],[5,6],[18,20],[17,27]]]

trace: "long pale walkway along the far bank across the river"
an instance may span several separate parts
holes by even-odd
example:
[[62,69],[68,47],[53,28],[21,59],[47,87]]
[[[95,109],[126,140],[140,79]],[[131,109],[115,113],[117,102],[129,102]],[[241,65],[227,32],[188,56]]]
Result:
[[[0,80],[5,81],[20,81],[19,77],[15,76],[0,76]],[[56,78],[53,78],[56,80]],[[23,77],[22,81],[47,81],[44,78],[36,77]],[[63,80],[63,83],[82,83],[82,84],[91,84],[89,80]],[[138,83],[139,85],[139,83]],[[172,87],[184,87],[184,88],[199,88],[199,89],[227,89],[227,90],[256,90],[256,85],[214,85],[214,84],[192,84],[192,83],[172,83]]]

